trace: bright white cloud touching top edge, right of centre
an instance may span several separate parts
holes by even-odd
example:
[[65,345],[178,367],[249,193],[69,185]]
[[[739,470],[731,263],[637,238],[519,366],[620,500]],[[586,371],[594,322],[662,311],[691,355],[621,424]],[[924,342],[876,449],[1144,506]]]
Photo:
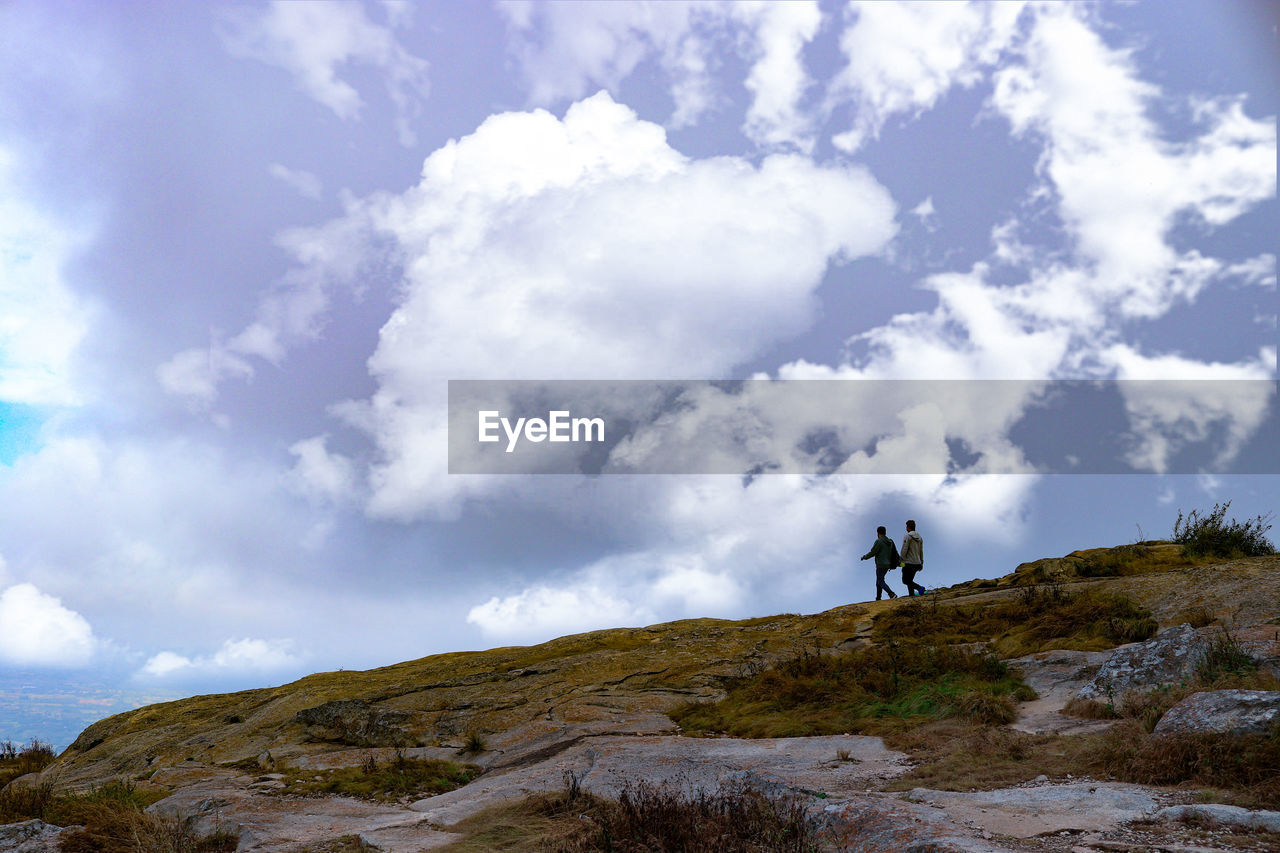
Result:
[[836,147],[854,152],[897,114],[932,108],[954,86],[980,81],[1018,35],[1024,3],[851,3],[840,36],[845,67],[828,109],[850,104]]

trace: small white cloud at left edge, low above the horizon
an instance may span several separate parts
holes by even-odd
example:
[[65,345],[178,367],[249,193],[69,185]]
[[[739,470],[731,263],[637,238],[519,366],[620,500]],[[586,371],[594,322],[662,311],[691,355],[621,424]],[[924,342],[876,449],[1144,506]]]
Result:
[[99,646],[88,621],[32,584],[0,592],[0,661],[15,666],[84,666]]

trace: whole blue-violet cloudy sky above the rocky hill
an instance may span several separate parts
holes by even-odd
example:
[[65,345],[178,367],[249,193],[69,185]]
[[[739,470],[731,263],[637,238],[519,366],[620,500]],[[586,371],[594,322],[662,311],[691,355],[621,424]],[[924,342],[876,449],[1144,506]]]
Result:
[[[1275,510],[1277,17],[0,4],[0,678],[257,686],[865,601],[908,517],[936,587]],[[677,473],[449,473],[449,380],[748,378],[956,393],[810,401],[863,448],[820,473],[698,467],[772,405],[712,392],[611,446]],[[1110,407],[1036,420],[1057,380]],[[1029,464],[1091,429],[1130,473]]]

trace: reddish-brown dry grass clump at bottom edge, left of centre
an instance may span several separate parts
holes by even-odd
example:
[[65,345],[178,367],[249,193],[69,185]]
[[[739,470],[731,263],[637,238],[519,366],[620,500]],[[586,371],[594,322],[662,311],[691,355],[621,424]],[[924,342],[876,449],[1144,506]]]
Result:
[[448,853],[813,853],[820,839],[796,799],[771,798],[745,784],[685,794],[634,784],[617,800],[563,790],[486,809],[451,827],[462,839]]

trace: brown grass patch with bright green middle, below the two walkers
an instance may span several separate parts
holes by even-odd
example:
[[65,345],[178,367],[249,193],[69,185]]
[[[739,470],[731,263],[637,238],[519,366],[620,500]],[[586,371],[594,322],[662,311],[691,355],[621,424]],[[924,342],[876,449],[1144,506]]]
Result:
[[685,704],[671,717],[690,733],[745,738],[877,734],[902,721],[969,715],[1009,722],[1014,699],[1034,695],[989,654],[890,642],[804,653],[737,679],[719,702]]

